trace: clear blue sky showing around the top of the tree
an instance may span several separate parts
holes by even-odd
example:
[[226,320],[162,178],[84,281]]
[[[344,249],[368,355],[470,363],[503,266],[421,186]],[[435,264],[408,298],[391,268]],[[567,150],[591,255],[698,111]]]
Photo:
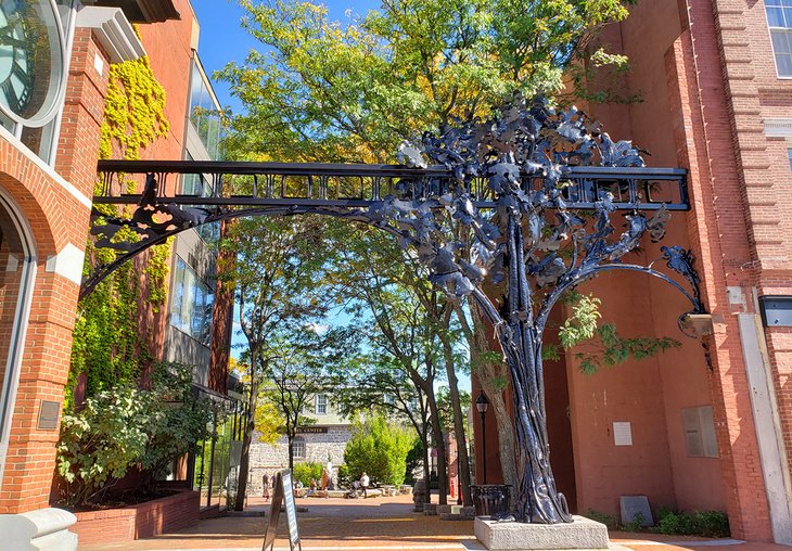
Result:
[[[243,62],[247,52],[257,48],[258,42],[240,26],[246,12],[237,0],[191,0],[190,3],[201,25],[199,56],[209,78],[231,61]],[[353,14],[365,14],[380,5],[376,0],[332,0],[323,3],[330,16],[338,21],[347,18],[347,10]],[[214,78],[212,82],[220,103],[238,113],[241,104],[231,98],[228,86]]]

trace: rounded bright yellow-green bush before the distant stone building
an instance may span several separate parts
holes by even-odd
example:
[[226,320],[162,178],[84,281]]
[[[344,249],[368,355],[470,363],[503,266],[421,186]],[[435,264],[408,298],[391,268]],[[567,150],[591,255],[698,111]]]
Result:
[[365,472],[376,484],[400,486],[413,443],[414,436],[407,428],[374,414],[355,427],[344,451],[344,463],[353,477]]

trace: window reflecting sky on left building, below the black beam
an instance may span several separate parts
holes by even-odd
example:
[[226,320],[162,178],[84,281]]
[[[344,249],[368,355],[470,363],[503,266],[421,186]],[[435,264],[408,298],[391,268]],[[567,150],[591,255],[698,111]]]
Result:
[[201,281],[195,270],[177,256],[170,303],[170,324],[208,346],[212,338],[214,306],[214,290]]

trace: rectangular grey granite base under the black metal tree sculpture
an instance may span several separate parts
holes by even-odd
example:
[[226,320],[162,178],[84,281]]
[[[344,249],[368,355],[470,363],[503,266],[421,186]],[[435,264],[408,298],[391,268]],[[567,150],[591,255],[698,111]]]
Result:
[[487,516],[476,516],[473,530],[490,551],[608,549],[604,524],[583,516],[574,518],[574,523],[525,524],[497,523]]

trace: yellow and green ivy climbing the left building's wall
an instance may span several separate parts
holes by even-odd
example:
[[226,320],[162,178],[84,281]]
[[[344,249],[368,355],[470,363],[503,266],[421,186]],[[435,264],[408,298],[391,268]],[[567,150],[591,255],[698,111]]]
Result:
[[[167,137],[169,130],[165,89],[154,76],[149,59],[111,65],[99,157],[139,159],[148,145]],[[120,176],[119,180],[128,192],[137,185],[131,178]],[[100,212],[113,216],[114,209],[105,205]],[[123,232],[116,235],[129,238]],[[95,249],[90,240],[86,253],[86,276],[92,264],[113,261],[117,255],[114,251]],[[142,270],[133,261],[126,262],[80,300],[66,407],[73,405],[79,374],[86,374],[86,396],[94,396],[112,387],[136,385],[154,359],[141,334],[140,321],[144,307],[156,313],[165,304],[170,241],[152,247],[145,255]]]

